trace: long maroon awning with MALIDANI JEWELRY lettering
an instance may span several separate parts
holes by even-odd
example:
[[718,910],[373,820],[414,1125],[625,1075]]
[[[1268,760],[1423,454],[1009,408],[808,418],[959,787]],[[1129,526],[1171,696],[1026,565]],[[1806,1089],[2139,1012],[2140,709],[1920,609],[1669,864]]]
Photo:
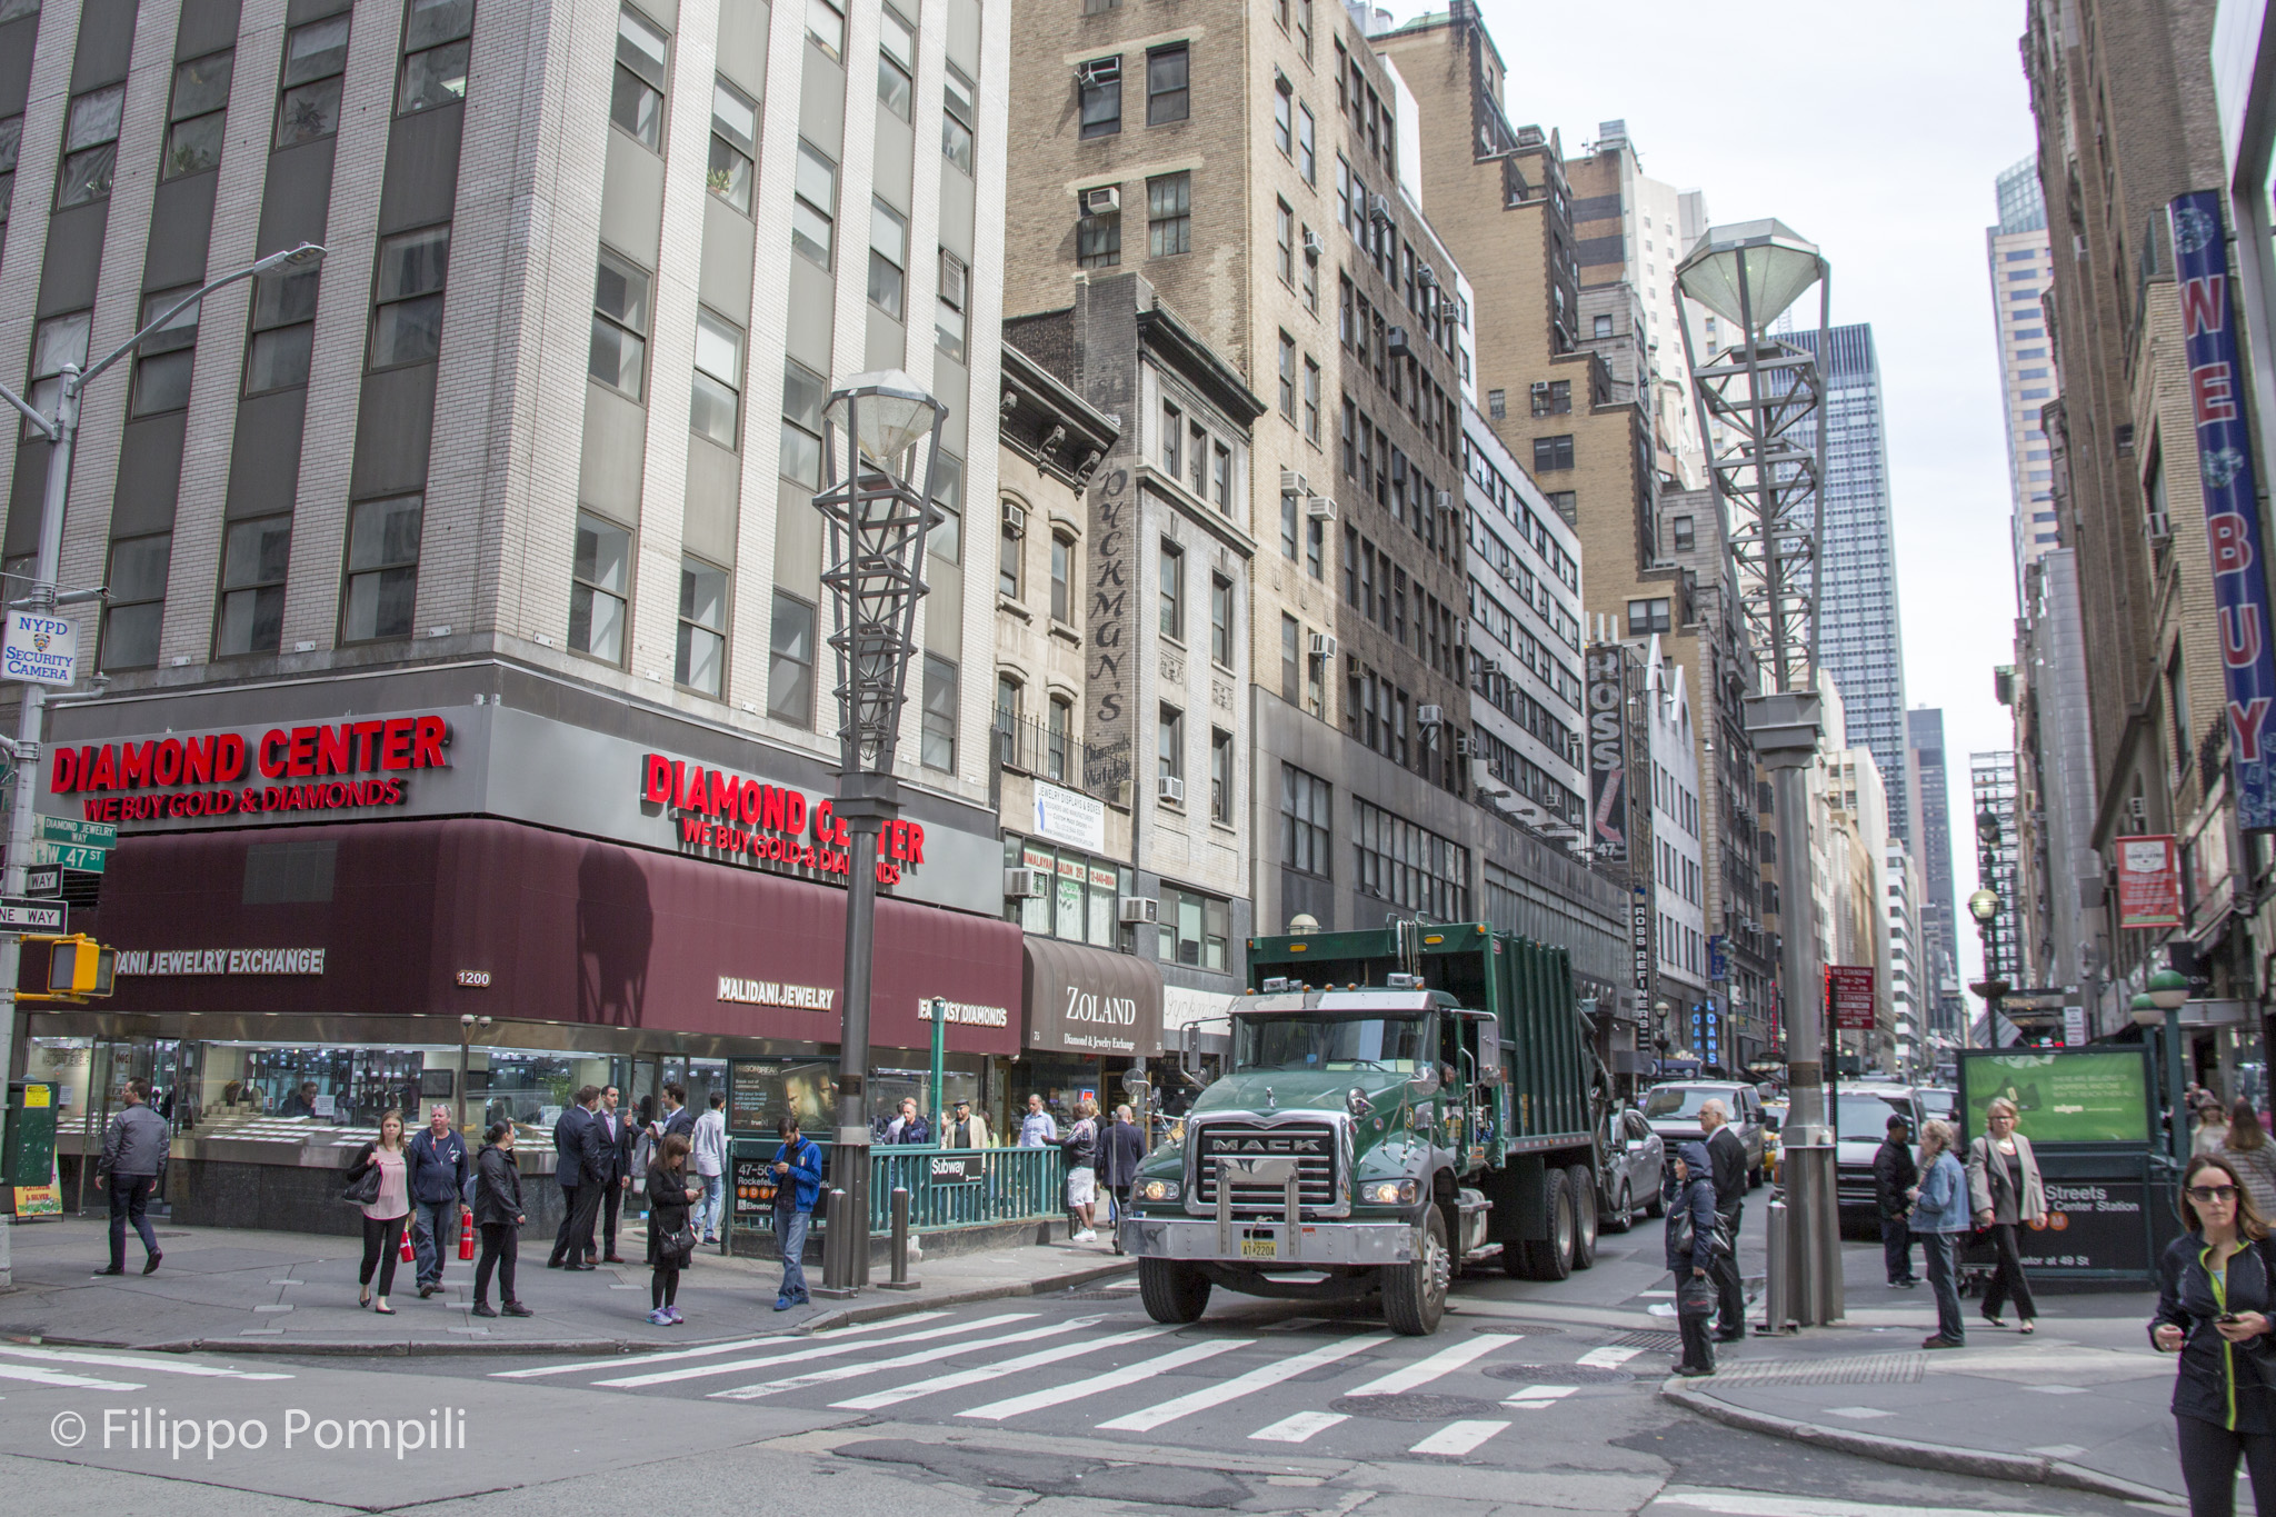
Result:
[[[321,851],[271,853],[248,876],[255,844],[332,844],[330,898],[275,901],[319,894]],[[451,819],[127,837],[93,930],[125,964],[152,955],[121,973],[118,1012],[476,1012],[833,1044],[844,903],[753,869]],[[874,1044],[929,1046],[920,1003],[942,996],[949,1048],[1020,1053],[1017,926],[892,898],[876,912]],[[323,973],[214,958],[239,948],[323,948]]]

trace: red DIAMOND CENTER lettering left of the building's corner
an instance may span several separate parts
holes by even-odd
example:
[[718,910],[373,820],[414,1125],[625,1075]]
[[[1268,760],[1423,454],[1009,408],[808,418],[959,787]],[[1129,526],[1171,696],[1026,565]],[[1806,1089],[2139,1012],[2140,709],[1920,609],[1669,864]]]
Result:
[[[448,769],[451,723],[385,716],[305,728],[55,746],[48,789],[82,796],[89,821],[337,812],[403,805],[410,771]],[[266,785],[248,785],[255,773]]]

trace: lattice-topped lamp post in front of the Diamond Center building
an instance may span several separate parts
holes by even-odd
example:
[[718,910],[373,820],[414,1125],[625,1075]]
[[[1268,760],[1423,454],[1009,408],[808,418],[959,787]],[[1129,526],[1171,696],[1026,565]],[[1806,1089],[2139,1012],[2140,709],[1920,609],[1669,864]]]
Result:
[[[933,519],[940,423],[949,407],[899,368],[858,373],[822,407],[815,509],[828,525],[838,653],[838,842],[847,851],[844,1021],[838,1035],[835,1189],[822,1290],[869,1278],[869,973],[876,944],[876,839],[901,812],[892,755],[908,696],[924,537]],[[922,469],[922,473],[920,473]]]

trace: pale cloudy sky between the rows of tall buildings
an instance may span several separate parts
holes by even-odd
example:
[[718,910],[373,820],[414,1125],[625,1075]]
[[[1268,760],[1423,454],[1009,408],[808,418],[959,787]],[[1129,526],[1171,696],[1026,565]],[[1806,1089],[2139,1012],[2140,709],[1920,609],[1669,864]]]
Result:
[[[1404,20],[1422,7],[1395,7]],[[1434,7],[1434,9],[1443,9]],[[1832,262],[1834,325],[1882,366],[1910,705],[1944,707],[1955,901],[1973,889],[1971,751],[2012,748],[2012,496],[1985,273],[1991,180],[2032,155],[2023,0],[1479,0],[1511,125],[1575,155],[1621,118],[1643,173],[1714,223],[1775,216]],[[1748,84],[1757,80],[1757,84]],[[1816,293],[1805,298],[1812,316]],[[1962,983],[1980,978],[1960,930]]]

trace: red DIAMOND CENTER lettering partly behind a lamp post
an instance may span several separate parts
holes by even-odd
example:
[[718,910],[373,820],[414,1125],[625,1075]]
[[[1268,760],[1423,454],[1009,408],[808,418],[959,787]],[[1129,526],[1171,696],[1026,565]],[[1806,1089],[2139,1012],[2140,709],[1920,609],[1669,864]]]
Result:
[[[649,753],[640,769],[640,798],[674,812],[683,851],[751,869],[813,869],[844,882],[853,839],[828,798],[662,753]],[[876,839],[876,882],[899,885],[920,864],[924,826],[888,821]]]

